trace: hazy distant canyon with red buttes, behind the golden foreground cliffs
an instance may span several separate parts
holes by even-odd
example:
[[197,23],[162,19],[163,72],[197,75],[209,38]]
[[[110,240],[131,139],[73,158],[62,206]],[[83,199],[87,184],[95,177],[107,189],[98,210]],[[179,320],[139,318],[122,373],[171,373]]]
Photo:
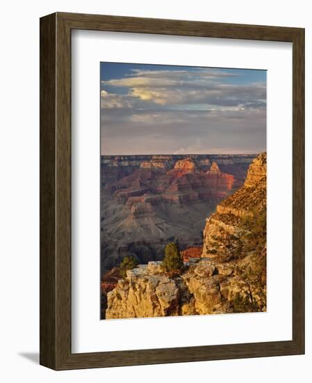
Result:
[[206,217],[233,194],[255,155],[101,157],[101,271],[124,256],[161,260],[170,240],[202,246]]

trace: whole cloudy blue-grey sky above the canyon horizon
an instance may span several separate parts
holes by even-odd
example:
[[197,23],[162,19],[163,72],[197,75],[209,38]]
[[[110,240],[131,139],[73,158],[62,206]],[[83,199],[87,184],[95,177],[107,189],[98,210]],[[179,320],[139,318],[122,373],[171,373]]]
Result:
[[266,71],[101,63],[101,154],[266,150]]

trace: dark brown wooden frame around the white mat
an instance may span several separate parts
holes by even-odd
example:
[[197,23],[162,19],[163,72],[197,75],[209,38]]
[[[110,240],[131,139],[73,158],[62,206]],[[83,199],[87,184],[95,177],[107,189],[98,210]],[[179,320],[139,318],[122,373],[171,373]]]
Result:
[[[293,340],[71,352],[71,31],[293,42]],[[55,370],[304,354],[304,29],[54,13],[40,19],[40,364]]]

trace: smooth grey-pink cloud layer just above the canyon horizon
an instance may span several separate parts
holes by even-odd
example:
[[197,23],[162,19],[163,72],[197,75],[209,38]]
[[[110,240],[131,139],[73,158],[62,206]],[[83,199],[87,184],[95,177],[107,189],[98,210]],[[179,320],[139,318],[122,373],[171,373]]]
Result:
[[265,110],[109,110],[101,116],[101,151],[113,154],[258,153],[265,150]]

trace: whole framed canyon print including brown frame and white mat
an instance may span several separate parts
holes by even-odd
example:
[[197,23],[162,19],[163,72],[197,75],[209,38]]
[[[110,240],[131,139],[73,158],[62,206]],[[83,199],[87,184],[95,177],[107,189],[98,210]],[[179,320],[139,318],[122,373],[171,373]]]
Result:
[[40,19],[40,364],[304,353],[304,29]]

